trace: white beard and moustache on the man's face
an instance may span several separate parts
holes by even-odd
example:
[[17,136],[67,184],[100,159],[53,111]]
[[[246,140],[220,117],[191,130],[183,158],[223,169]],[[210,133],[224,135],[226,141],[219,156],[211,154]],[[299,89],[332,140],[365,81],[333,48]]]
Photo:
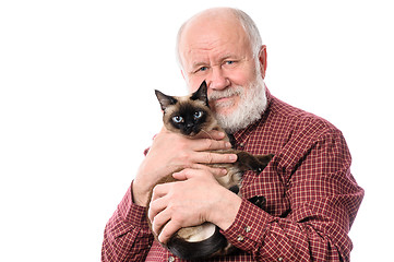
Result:
[[[235,86],[224,91],[213,91],[208,99],[214,100],[232,95],[240,96],[239,104],[232,112],[226,115],[214,112],[220,127],[228,133],[235,133],[258,121],[267,104],[265,84],[260,74],[256,75],[255,81],[250,83],[250,86]],[[214,104],[216,108],[232,106],[231,100],[224,103],[215,102]]]

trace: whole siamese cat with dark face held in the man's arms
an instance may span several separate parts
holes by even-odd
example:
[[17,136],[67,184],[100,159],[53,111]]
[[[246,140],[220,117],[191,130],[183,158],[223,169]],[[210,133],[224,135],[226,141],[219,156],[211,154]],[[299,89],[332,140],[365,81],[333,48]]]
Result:
[[[155,91],[157,99],[163,110],[163,121],[167,130],[182,135],[193,138],[211,130],[217,130],[226,133],[217,123],[213,112],[208,106],[207,87],[205,81],[200,88],[188,96],[168,96],[159,91]],[[225,138],[230,141],[229,136]],[[273,157],[270,155],[251,155],[247,152],[236,150],[216,151],[222,154],[237,154],[238,159],[232,164],[213,164],[212,167],[226,168],[227,175],[217,177],[216,180],[234,193],[239,193],[241,186],[242,172],[246,170],[254,170],[261,172]],[[158,183],[172,182],[176,179],[169,175],[162,179]],[[147,202],[147,210],[152,199]],[[249,200],[256,205],[262,205],[263,196],[255,196]],[[261,207],[261,206],[260,206]],[[152,230],[152,224],[147,218]],[[153,231],[153,230],[152,230]],[[155,239],[158,241],[157,235]],[[186,227],[179,229],[169,241],[164,245],[175,255],[187,260],[202,260],[216,255],[225,255],[236,248],[230,245],[227,239],[219,233],[219,228],[212,223],[204,223],[200,226]]]

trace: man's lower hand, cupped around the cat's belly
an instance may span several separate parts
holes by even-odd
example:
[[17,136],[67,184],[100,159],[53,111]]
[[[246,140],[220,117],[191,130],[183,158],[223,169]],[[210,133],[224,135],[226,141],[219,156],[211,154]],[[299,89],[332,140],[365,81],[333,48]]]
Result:
[[208,169],[188,168],[174,177],[182,181],[156,186],[148,210],[160,242],[181,227],[211,222],[225,230],[232,224],[241,199],[223,188]]

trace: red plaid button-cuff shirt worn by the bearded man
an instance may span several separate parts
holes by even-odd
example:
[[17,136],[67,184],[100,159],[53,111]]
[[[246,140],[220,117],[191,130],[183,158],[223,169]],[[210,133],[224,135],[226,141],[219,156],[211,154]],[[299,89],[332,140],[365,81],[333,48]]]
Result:
[[[247,172],[243,201],[226,238],[240,249],[210,261],[349,261],[348,231],[363,196],[343,134],[330,122],[271,96],[262,119],[235,134],[237,147],[275,154]],[[153,241],[144,207],[127,192],[104,235],[102,261],[181,261]],[[247,199],[263,195],[263,209]]]

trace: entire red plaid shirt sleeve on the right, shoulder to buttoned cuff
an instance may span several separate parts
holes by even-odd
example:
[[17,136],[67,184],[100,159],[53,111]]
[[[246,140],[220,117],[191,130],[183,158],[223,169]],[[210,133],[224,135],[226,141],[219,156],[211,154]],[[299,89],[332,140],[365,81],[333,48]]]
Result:
[[272,167],[286,184],[287,212],[273,216],[243,199],[236,221],[223,234],[256,261],[349,261],[353,245],[347,234],[363,190],[350,174],[345,140],[335,131],[314,142],[305,133],[294,141]]

